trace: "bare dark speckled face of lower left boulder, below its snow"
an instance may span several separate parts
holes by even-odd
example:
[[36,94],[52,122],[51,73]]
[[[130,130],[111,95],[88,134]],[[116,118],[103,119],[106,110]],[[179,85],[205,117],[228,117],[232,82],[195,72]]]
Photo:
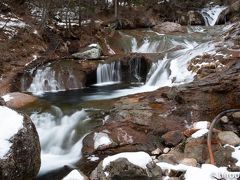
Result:
[[24,115],[24,128],[10,141],[11,150],[7,158],[0,159],[0,179],[31,180],[40,169],[40,142],[36,128]]

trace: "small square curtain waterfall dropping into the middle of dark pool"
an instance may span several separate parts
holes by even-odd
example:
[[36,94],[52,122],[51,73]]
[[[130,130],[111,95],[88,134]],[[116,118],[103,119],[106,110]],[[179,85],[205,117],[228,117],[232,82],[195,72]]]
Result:
[[121,62],[99,64],[97,68],[97,85],[108,85],[121,81]]

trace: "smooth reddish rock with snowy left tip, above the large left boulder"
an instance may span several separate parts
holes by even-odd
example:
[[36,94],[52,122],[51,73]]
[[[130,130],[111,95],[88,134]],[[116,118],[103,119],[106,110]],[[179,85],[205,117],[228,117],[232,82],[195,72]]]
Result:
[[36,97],[20,92],[8,93],[2,96],[2,98],[5,100],[8,107],[14,109],[23,108],[37,101]]

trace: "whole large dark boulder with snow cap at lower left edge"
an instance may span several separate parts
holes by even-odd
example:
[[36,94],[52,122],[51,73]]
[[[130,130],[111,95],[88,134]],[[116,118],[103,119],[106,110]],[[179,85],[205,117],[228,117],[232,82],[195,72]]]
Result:
[[40,142],[26,115],[0,106],[0,179],[34,179],[40,169]]

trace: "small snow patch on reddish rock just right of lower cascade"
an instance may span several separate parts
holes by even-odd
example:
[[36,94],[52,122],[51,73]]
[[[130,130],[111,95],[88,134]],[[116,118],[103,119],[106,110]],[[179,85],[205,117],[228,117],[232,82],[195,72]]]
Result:
[[94,149],[97,149],[100,146],[107,146],[112,144],[112,140],[109,138],[108,134],[103,132],[94,133],[93,141]]

